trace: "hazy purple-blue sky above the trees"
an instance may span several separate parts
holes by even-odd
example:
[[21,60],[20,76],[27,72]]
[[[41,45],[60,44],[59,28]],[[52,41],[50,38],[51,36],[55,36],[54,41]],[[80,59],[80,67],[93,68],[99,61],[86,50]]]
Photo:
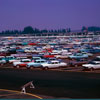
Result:
[[100,26],[100,0],[0,0],[0,31]]

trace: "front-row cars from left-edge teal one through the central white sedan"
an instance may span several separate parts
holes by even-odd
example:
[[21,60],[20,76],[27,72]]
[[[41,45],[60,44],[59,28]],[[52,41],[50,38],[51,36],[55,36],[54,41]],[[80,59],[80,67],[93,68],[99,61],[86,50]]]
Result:
[[62,62],[61,60],[57,60],[56,58],[41,58],[41,57],[32,57],[31,59],[27,57],[1,57],[0,64],[13,64],[14,68],[26,67],[26,68],[34,68],[41,67],[43,69],[47,68],[58,68],[58,67],[66,67],[67,63]]

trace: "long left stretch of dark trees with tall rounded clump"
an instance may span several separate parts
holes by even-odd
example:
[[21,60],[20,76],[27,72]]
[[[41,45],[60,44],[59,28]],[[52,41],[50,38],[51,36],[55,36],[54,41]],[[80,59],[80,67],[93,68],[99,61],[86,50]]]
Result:
[[55,34],[59,34],[59,33],[69,33],[71,32],[70,28],[67,29],[58,29],[58,30],[47,30],[47,29],[37,29],[37,28],[32,28],[31,26],[27,26],[25,27],[22,31],[19,30],[6,30],[6,31],[2,31],[0,33],[0,35],[23,35],[23,34],[38,34],[41,35],[43,33],[55,33]]

